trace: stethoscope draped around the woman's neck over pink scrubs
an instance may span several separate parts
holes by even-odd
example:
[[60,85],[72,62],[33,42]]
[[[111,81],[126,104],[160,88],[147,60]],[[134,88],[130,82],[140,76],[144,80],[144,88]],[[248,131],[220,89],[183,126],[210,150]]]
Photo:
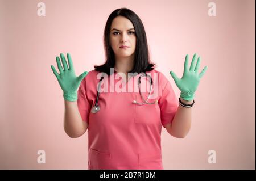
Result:
[[[141,78],[142,77],[146,77],[146,79],[147,79],[147,77],[150,79],[150,92],[148,93],[148,95],[147,95],[147,99],[145,100],[144,98],[143,98],[143,96],[142,96],[142,94],[141,94]],[[98,89],[97,89],[97,98],[96,98],[96,102],[95,102],[95,104],[94,104],[94,106],[92,107],[92,109],[90,110],[90,112],[92,112],[92,113],[97,113],[98,111],[100,111],[100,106],[98,105],[98,97],[100,96],[100,92],[98,91],[99,89],[100,89],[100,87],[101,87],[101,81],[102,81],[102,79],[103,79],[103,77],[101,77],[101,79],[100,79],[100,81],[99,81],[99,87],[98,87]],[[133,103],[134,104],[137,104],[137,105],[139,105],[139,106],[142,106],[142,105],[144,105],[144,104],[156,104],[156,103],[158,103],[158,100],[155,100],[155,102],[152,102],[152,103],[148,103],[147,102],[147,100],[149,99],[149,97],[150,97],[150,94],[151,94],[151,91],[152,91],[152,86],[153,86],[153,81],[152,81],[152,77],[150,76],[150,75],[148,75],[148,74],[142,74],[142,75],[140,75],[139,76],[139,78],[138,78],[138,86],[139,86],[139,94],[141,95],[141,98],[142,98],[142,103],[138,103],[136,100],[133,100]]]

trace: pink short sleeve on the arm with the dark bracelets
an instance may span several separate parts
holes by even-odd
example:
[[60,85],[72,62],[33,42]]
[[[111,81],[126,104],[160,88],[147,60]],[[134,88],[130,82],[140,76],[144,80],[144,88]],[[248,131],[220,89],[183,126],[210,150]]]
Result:
[[177,108],[179,107],[179,100],[177,100],[171,83],[166,79],[166,84],[162,91],[162,96],[159,99],[159,107],[161,114],[161,122],[163,127],[168,123],[172,123]]

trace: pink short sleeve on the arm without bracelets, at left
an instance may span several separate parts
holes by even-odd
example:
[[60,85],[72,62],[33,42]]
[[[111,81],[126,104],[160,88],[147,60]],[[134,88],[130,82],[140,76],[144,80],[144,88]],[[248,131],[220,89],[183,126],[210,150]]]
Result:
[[86,81],[82,79],[77,91],[77,106],[83,121],[89,123],[90,104],[86,96]]

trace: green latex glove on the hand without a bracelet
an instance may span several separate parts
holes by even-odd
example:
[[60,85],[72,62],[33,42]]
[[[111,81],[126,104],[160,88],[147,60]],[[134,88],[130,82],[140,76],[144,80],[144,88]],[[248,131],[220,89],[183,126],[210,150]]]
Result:
[[79,77],[76,77],[71,56],[69,53],[67,54],[67,57],[68,57],[68,65],[63,53],[60,54],[61,62],[63,64],[64,69],[60,64],[60,58],[56,57],[57,66],[60,71],[60,74],[57,73],[53,65],[51,65],[51,68],[53,73],[57,77],[57,80],[60,84],[61,89],[63,90],[64,99],[68,101],[76,101],[77,89],[79,88],[82,79],[86,77],[88,72],[85,71]]

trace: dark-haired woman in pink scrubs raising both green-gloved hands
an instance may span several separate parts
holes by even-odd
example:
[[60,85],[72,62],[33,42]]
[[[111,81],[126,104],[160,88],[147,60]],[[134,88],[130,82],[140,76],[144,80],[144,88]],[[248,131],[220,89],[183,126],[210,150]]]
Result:
[[[174,137],[185,137],[191,125],[195,91],[207,67],[198,73],[200,57],[196,63],[195,54],[190,69],[186,56],[181,79],[170,72],[181,90],[178,101],[168,79],[150,63],[141,19],[126,8],[110,14],[104,45],[105,64],[79,77],[69,54],[69,68],[62,53],[64,70],[59,57],[60,74],[51,66],[65,99],[65,132],[76,138],[88,128],[89,169],[163,169],[162,126]],[[145,86],[141,93],[135,91],[139,80]],[[148,86],[153,87],[153,95]]]

